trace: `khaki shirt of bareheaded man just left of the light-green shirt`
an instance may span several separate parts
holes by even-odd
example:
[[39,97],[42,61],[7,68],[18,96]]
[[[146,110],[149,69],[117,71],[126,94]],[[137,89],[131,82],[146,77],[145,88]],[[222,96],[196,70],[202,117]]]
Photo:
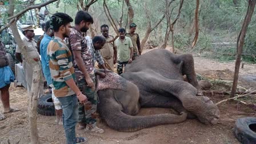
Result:
[[[103,36],[102,36],[103,37]],[[113,42],[107,42],[114,39],[112,35],[109,35],[108,38],[106,38],[106,43],[101,49],[101,56],[104,59],[110,59],[114,57],[114,43]]]

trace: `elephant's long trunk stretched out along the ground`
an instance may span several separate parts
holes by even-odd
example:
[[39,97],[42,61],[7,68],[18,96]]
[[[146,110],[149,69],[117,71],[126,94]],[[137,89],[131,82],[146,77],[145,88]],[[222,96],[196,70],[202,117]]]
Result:
[[[105,99],[106,100],[106,99]],[[102,101],[101,101],[102,102]],[[187,114],[156,114],[149,116],[133,116],[123,113],[119,103],[104,101],[99,103],[99,114],[105,119],[111,129],[117,131],[138,131],[147,127],[165,125],[171,123],[181,123],[186,120]]]

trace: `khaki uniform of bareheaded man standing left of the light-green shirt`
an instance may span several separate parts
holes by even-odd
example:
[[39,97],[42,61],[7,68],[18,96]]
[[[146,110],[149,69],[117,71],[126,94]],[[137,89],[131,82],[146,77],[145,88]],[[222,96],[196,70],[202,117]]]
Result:
[[[114,39],[112,35],[109,35],[106,38],[106,41],[111,41]],[[113,42],[106,42],[105,45],[101,49],[101,56],[109,63],[111,69],[114,69],[114,43]]]

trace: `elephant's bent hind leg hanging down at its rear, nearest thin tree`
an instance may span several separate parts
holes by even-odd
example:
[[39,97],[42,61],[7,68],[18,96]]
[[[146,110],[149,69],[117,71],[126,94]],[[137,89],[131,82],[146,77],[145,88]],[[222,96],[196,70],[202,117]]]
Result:
[[181,71],[186,75],[187,81],[197,88],[197,95],[203,95],[197,81],[197,74],[195,73],[194,58],[191,54],[182,54],[178,56],[182,61]]

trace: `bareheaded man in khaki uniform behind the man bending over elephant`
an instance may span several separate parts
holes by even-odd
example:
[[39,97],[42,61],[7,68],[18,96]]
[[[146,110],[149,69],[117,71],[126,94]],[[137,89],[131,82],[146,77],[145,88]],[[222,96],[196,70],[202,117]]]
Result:
[[112,70],[114,70],[114,65],[117,63],[117,49],[114,47],[114,42],[109,42],[114,39],[112,35],[109,35],[109,26],[104,24],[101,25],[101,34],[106,38],[106,43],[101,49],[101,55],[105,59]]

